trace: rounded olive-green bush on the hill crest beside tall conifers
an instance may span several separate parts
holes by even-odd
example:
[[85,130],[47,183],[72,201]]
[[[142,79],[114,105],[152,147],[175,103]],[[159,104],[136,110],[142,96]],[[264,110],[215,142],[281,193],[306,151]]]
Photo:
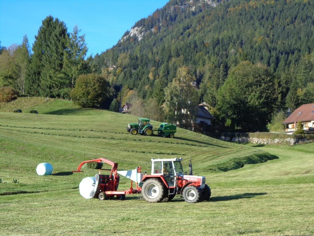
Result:
[[109,82],[100,75],[80,75],[70,96],[74,103],[82,107],[99,106],[107,98]]

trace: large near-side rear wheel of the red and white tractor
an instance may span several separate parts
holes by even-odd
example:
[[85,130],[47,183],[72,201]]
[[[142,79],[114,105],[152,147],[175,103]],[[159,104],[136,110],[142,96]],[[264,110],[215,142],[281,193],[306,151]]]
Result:
[[156,178],[146,180],[142,186],[143,198],[148,202],[161,202],[164,197],[165,186]]

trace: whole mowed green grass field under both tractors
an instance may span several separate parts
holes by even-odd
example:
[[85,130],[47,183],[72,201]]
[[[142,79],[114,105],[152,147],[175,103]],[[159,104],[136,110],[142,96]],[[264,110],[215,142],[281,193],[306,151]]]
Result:
[[[131,115],[59,100],[35,110],[41,114],[0,112],[0,178],[6,182],[0,183],[0,235],[314,234],[313,143],[238,145],[179,128],[174,139],[133,136],[126,132],[127,123],[137,121]],[[232,169],[233,160],[250,156],[273,160],[215,169]],[[148,172],[151,158],[182,157],[188,170],[192,157],[193,172],[206,177],[212,197],[196,204],[180,195],[161,203],[136,194],[124,201],[84,199],[78,184],[97,170],[71,171],[98,157]],[[41,162],[52,164],[53,175],[36,174]],[[119,189],[129,184],[121,178]]]

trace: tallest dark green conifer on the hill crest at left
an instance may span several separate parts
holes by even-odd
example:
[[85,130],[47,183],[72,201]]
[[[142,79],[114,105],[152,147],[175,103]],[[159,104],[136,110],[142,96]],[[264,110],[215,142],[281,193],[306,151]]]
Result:
[[32,95],[60,96],[72,79],[63,68],[69,35],[63,21],[47,16],[35,36],[26,91]]

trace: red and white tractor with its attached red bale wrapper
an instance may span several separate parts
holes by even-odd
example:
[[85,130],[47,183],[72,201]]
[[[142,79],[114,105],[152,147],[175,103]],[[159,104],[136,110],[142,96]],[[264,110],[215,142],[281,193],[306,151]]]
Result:
[[[95,175],[90,197],[98,197],[100,200],[116,196],[124,199],[125,194],[142,193],[143,198],[148,202],[170,201],[176,194],[182,194],[183,199],[189,203],[206,201],[209,199],[211,191],[205,183],[205,177],[192,175],[192,164],[190,162],[190,175],[183,172],[182,158],[172,159],[151,159],[151,174],[143,175],[141,167],[134,170],[117,171],[118,164],[110,160],[99,158],[95,160],[83,161],[78,170],[86,162],[105,162],[112,166],[111,169],[100,169],[110,171],[109,175]],[[128,190],[117,191],[119,184],[118,173],[131,179],[131,187]],[[132,187],[132,180],[136,183],[136,188]]]

